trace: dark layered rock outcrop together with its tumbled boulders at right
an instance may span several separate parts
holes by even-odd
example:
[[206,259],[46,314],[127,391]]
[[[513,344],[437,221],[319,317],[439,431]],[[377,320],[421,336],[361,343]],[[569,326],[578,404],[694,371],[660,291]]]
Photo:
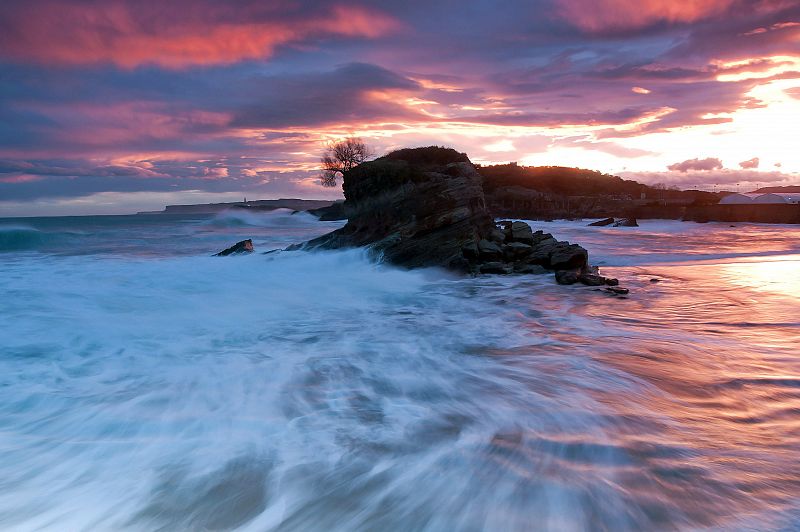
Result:
[[[496,225],[482,178],[452,149],[399,150],[345,175],[348,222],[305,248],[369,246],[409,268],[441,266],[471,273],[571,272],[559,282],[594,283],[588,253],[520,221]],[[594,276],[594,277],[591,277]]]

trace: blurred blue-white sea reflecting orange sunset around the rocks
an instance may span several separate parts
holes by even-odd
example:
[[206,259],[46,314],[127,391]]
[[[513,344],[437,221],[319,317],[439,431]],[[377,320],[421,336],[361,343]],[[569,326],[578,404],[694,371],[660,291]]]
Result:
[[0,219],[0,530],[800,530],[800,227],[588,221],[627,297]]

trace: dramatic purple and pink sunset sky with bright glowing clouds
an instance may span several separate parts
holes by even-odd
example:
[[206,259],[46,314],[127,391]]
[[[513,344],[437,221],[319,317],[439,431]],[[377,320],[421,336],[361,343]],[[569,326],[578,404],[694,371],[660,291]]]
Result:
[[800,184],[797,0],[3,0],[0,216],[339,198],[326,143]]

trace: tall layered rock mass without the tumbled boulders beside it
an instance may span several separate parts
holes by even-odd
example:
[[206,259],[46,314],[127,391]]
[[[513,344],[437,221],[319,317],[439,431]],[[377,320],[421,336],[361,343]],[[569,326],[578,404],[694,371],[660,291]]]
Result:
[[347,225],[307,247],[370,246],[409,268],[468,270],[462,248],[495,229],[481,176],[449,149],[400,150],[345,175]]

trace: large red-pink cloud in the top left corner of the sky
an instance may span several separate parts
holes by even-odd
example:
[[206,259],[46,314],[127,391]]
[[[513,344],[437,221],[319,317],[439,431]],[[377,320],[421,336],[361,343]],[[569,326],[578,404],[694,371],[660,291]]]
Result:
[[280,45],[320,36],[374,38],[398,27],[361,7],[334,6],[286,20],[250,18],[246,9],[226,10],[225,4],[205,7],[211,8],[201,15],[202,9],[171,2],[33,1],[5,15],[0,55],[40,64],[175,69],[261,59]]

